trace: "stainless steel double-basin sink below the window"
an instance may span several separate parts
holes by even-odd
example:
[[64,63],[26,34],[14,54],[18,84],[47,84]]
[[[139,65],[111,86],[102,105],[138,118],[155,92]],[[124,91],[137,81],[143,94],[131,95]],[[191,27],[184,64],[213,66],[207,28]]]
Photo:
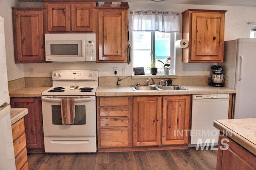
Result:
[[133,91],[151,91],[151,90],[188,90],[181,86],[131,86]]

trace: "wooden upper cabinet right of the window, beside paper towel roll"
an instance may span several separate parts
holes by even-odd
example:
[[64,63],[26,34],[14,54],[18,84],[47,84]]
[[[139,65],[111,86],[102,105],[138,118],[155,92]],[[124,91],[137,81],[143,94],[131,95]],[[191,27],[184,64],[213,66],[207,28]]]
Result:
[[195,9],[182,12],[182,36],[189,41],[188,48],[182,49],[182,62],[223,63],[225,12]]

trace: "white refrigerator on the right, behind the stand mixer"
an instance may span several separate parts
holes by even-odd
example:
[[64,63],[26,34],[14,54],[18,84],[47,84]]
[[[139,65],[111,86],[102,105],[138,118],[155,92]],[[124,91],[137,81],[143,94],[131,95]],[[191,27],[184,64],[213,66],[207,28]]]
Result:
[[224,43],[226,87],[236,89],[234,119],[256,117],[256,38]]

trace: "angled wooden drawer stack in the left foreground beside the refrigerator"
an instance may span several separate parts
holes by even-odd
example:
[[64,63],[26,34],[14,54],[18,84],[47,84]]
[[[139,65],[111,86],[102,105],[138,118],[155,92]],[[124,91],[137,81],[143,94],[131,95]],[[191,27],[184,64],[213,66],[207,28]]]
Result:
[[12,125],[12,138],[16,170],[28,170],[24,118],[20,119]]

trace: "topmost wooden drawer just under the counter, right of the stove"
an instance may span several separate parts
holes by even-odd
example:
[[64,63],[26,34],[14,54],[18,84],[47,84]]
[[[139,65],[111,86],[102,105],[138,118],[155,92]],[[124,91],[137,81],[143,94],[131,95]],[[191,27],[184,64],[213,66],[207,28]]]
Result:
[[128,106],[128,98],[100,98],[100,106]]

